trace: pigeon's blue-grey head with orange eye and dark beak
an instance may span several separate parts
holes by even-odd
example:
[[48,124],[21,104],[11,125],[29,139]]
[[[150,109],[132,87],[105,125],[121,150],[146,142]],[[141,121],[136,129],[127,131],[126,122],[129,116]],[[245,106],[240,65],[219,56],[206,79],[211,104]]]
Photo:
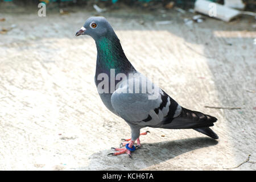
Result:
[[92,16],[88,18],[84,23],[84,26],[76,32],[76,36],[89,35],[94,40],[97,40],[98,38],[107,36],[113,32],[113,28],[110,26],[106,18],[102,16]]

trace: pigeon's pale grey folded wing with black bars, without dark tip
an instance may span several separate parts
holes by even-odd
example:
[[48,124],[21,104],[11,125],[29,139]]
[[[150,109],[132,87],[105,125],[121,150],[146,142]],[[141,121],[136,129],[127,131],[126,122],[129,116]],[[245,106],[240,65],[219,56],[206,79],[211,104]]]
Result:
[[[127,122],[140,126],[157,127],[171,122],[180,114],[181,107],[147,78],[146,84],[142,84],[142,80],[133,78],[133,87],[129,86],[129,81],[120,84],[111,97],[114,110]],[[139,85],[139,93],[134,93],[135,85]]]

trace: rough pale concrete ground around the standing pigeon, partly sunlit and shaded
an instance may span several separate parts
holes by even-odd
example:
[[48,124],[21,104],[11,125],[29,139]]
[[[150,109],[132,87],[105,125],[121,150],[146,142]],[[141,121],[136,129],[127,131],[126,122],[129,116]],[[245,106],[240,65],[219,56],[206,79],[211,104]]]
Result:
[[193,14],[176,10],[102,14],[138,71],[158,78],[180,105],[218,118],[218,140],[194,130],[143,129],[151,134],[129,159],[107,156],[130,128],[97,94],[93,39],[75,37],[95,11],[39,17],[37,9],[24,10],[0,11],[7,30],[0,34],[0,170],[256,169],[254,18],[206,17],[188,26],[183,19]]

